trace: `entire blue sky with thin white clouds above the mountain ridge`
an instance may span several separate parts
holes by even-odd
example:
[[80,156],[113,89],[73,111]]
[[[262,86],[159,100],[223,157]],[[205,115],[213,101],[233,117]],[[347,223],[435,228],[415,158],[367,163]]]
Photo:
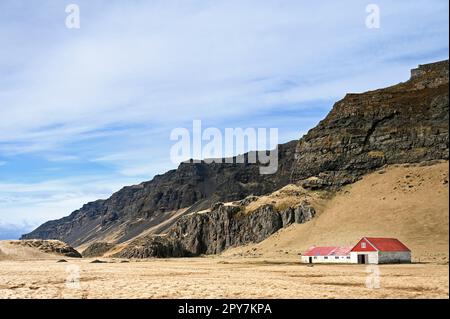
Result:
[[[80,9],[67,28],[66,6]],[[368,28],[368,4],[379,28]],[[0,2],[0,239],[177,167],[174,128],[300,138],[448,58],[447,0]]]

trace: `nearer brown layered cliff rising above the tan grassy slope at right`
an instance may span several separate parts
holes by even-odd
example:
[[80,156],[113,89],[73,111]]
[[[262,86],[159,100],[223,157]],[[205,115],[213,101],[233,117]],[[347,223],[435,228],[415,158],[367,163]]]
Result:
[[385,164],[448,159],[448,76],[448,61],[437,62],[405,83],[348,94],[299,141],[293,179],[339,187]]

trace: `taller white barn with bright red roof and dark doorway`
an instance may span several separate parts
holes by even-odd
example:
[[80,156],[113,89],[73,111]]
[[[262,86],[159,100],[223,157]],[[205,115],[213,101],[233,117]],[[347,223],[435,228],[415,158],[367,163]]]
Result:
[[350,251],[355,264],[410,263],[411,250],[396,238],[363,237]]

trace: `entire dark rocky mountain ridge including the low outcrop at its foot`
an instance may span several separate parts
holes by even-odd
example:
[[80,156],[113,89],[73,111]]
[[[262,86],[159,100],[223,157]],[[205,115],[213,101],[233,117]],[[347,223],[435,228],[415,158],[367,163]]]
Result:
[[[448,159],[448,92],[448,61],[420,66],[407,82],[348,94],[337,102],[300,141],[280,146],[274,175],[260,175],[252,164],[185,163],[22,238],[60,239],[78,246],[108,237],[120,243],[160,225],[180,208],[188,215],[218,201],[270,193],[292,182],[305,188],[336,188],[385,164]],[[143,245],[147,252],[142,255],[214,253],[262,240],[286,220],[298,218],[295,211],[282,215],[263,210],[240,220],[235,209],[225,206],[174,220],[159,231],[169,235]],[[176,230],[169,231],[172,226]]]

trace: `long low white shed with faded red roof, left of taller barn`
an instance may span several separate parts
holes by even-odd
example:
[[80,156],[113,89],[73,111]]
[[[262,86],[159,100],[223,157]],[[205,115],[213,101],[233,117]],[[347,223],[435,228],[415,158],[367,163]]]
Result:
[[303,263],[350,263],[352,247],[311,247],[301,257]]

